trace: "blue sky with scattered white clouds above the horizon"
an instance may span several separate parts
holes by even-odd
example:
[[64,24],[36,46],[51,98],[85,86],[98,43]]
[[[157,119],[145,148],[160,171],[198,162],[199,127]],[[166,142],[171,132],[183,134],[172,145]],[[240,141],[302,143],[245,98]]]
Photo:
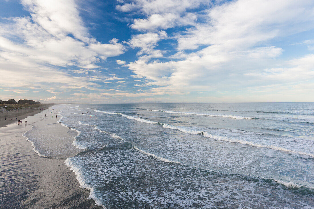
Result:
[[0,0],[0,99],[314,102],[312,0]]

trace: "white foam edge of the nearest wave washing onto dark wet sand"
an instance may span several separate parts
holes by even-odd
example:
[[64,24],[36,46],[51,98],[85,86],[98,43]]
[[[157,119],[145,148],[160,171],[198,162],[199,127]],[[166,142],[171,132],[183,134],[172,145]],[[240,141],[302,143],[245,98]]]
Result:
[[76,167],[74,165],[74,163],[72,163],[71,159],[70,158],[67,158],[65,161],[64,161],[65,165],[70,167],[71,170],[74,171],[75,175],[76,175],[76,180],[78,180],[78,183],[80,184],[80,187],[81,188],[84,188],[84,189],[89,189],[89,196],[88,196],[88,199],[93,199],[95,201],[95,204],[98,205],[98,206],[102,206],[103,208],[106,208],[102,203],[101,203],[101,200],[99,200],[97,197],[96,197],[96,193],[95,193],[95,188],[89,186],[86,181],[85,181],[85,176],[83,174],[83,172],[81,171],[81,169],[79,169],[78,167]]

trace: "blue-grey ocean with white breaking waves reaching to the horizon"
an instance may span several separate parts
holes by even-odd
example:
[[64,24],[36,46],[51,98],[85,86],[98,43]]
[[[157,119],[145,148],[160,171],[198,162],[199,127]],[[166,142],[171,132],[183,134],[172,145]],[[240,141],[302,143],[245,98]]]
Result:
[[314,103],[51,108],[77,131],[72,145],[24,135],[41,156],[78,150],[65,164],[97,205],[314,208]]

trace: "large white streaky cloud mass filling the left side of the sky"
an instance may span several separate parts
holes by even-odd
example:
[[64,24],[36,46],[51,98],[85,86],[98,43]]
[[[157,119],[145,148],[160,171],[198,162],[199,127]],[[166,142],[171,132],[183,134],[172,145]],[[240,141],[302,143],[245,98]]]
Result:
[[[22,0],[30,16],[0,23],[2,86],[90,89],[99,86],[86,74],[100,72],[98,62],[124,53],[113,38],[101,43],[89,35],[73,0]],[[80,68],[73,70],[67,68]],[[12,70],[14,69],[14,73]],[[70,72],[81,74],[73,77]]]

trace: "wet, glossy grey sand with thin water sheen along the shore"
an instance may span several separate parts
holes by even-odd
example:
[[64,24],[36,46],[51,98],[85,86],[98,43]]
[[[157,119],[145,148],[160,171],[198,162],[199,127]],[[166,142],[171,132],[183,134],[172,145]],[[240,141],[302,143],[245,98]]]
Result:
[[60,151],[53,157],[42,157],[22,136],[33,128],[46,142],[58,139],[58,143],[71,144],[77,132],[57,123],[57,112],[50,112],[35,110],[35,115],[26,118],[27,126],[14,121],[0,128],[0,208],[100,208],[88,199],[89,190],[80,188],[75,174],[64,165],[67,157],[78,153],[75,148],[71,153]]

